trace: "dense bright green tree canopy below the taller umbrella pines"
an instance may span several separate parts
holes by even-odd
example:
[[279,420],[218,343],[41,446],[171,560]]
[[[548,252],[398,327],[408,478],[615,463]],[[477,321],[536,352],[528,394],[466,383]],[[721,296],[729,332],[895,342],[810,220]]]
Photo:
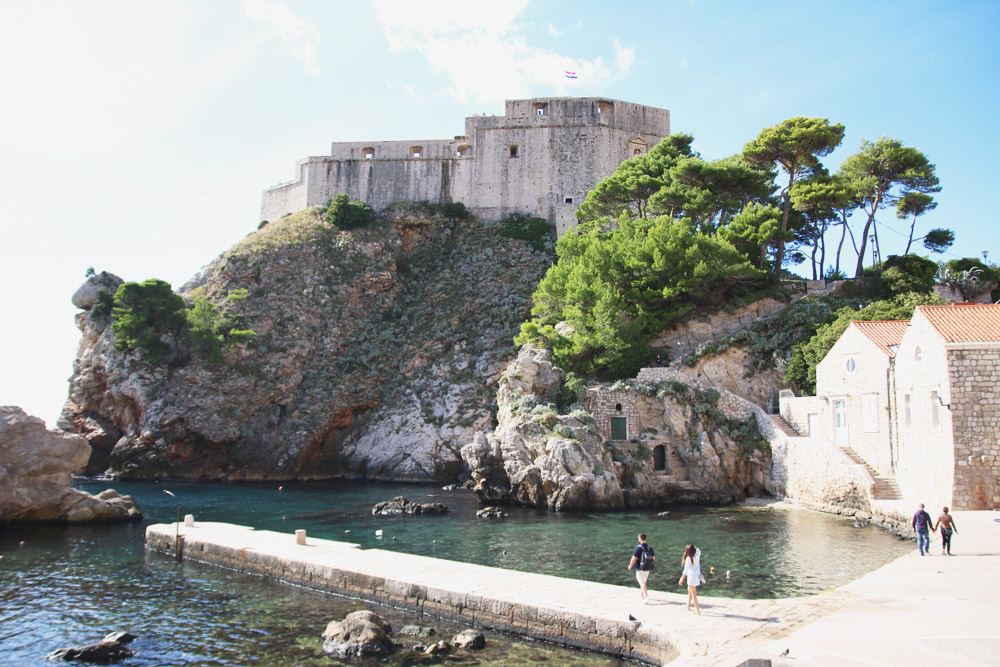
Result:
[[763,282],[732,244],[688,219],[623,215],[618,225],[559,239],[518,344],[544,342],[557,363],[584,375],[628,377],[649,360],[655,333]]

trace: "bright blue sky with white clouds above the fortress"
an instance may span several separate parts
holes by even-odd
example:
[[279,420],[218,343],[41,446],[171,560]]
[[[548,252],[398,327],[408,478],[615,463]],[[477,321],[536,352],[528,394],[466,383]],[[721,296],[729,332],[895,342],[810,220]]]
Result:
[[[793,116],[846,126],[831,170],[894,137],[937,167],[918,233],[956,242],[932,259],[995,263],[998,29],[975,0],[0,0],[0,405],[54,427],[88,267],[179,287],[297,160],[449,139],[506,99],[666,108],[706,159]],[[879,223],[902,252],[908,223]]]

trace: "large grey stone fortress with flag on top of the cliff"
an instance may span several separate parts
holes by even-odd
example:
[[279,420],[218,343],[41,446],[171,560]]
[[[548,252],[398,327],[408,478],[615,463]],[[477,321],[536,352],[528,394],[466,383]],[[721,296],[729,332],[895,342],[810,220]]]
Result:
[[503,116],[465,119],[465,134],[429,141],[335,142],[264,191],[273,221],[347,193],[376,210],[397,201],[462,202],[480,218],[545,218],[562,235],[621,163],[670,134],[670,112],[598,97],[507,100]]

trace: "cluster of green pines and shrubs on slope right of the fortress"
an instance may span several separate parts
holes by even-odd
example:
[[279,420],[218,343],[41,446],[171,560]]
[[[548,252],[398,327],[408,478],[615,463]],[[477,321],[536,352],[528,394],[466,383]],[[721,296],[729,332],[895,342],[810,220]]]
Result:
[[[777,286],[791,261],[807,262],[813,278],[844,277],[842,262],[852,261],[853,251],[861,279],[853,294],[803,302],[780,322],[715,344],[746,345],[763,367],[792,358],[796,341],[811,339],[845,308],[867,309],[861,317],[890,311],[905,317],[907,308],[912,313],[929,299],[935,282],[950,281],[963,293],[1000,284],[985,265],[942,273],[913,254],[865,269],[868,237],[877,238],[876,216],[887,207],[910,221],[907,250],[923,241],[943,252],[954,233],[917,231],[940,191],[923,153],[897,139],[865,141],[831,174],[821,158],[843,136],[843,125],[796,117],[764,128],[741,153],[721,160],[703,160],[691,135],[676,134],[625,161],[588,194],[577,212],[580,225],[556,245],[558,261],[539,284],[517,342],[551,348],[556,363],[584,377],[630,377],[650,358],[651,338],[680,319],[759,292],[768,281]],[[826,234],[837,227],[839,243],[828,253]],[[795,363],[820,351],[817,342]],[[808,373],[790,372],[810,385]]]

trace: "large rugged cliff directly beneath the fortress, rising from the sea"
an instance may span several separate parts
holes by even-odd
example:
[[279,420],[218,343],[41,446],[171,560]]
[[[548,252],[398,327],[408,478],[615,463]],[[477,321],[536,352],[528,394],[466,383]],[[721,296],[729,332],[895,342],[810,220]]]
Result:
[[115,348],[102,304],[120,279],[94,276],[59,425],[93,445],[88,472],[120,478],[452,479],[550,261],[419,206],[350,232],[311,209],[182,288],[255,335],[216,361],[165,336],[158,365]]

